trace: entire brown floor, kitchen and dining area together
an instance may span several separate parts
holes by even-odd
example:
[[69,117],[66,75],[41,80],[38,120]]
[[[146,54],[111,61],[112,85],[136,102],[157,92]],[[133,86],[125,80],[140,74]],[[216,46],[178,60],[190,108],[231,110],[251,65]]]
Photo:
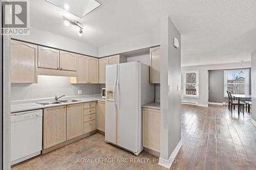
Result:
[[[256,169],[256,127],[250,114],[238,117],[227,106],[182,105],[183,146],[171,169]],[[92,162],[77,162],[91,158]],[[127,163],[95,162],[95,158],[128,158]],[[144,162],[131,163],[131,159]],[[148,159],[148,163],[146,163]],[[104,142],[95,134],[56,151],[19,163],[12,169],[166,169],[154,162],[158,157],[142,152],[138,156]]]

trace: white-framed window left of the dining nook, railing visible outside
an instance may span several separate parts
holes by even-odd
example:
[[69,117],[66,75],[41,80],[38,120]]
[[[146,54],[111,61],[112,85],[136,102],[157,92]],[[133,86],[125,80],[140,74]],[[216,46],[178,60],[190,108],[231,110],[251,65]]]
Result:
[[184,72],[184,97],[199,98],[199,70]]

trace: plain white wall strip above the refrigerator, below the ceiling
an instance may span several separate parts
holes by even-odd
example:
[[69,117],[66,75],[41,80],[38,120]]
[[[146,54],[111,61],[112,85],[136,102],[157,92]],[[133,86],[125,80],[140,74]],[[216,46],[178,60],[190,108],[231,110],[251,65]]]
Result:
[[145,33],[130,39],[114,42],[99,47],[99,57],[134,51],[141,48],[160,44],[160,25],[155,26],[152,32]]

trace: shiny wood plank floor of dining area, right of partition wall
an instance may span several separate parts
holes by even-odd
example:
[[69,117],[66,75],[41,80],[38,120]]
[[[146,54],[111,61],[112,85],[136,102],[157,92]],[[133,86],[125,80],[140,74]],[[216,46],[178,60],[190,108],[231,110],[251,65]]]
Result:
[[183,145],[171,169],[256,169],[256,127],[227,106],[182,105]]

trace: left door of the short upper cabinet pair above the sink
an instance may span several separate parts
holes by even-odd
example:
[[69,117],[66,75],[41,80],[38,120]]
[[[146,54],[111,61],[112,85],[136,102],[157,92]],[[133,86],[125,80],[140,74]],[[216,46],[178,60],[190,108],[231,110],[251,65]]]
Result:
[[59,50],[38,46],[38,67],[59,69]]

